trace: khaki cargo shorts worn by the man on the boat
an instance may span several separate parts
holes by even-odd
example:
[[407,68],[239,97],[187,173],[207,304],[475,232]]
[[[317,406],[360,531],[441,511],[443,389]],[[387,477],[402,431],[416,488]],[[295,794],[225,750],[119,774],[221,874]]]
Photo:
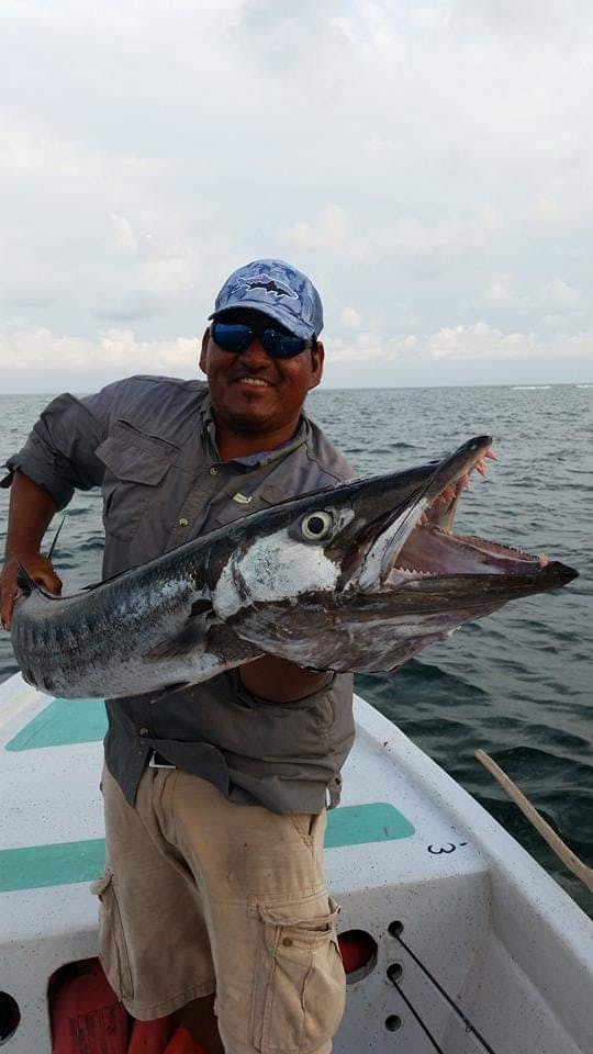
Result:
[[180,770],[147,769],[136,808],[104,770],[101,963],[133,1017],[216,993],[226,1054],[326,1054],[345,1005],[325,814],[228,801]]

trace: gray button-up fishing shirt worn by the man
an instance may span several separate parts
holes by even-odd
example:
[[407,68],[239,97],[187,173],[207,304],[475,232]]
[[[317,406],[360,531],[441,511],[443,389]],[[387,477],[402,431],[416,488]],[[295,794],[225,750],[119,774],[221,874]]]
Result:
[[[75,487],[102,487],[105,578],[353,475],[304,416],[282,447],[221,461],[208,385],[164,377],[132,377],[83,399],[59,395],[8,464],[59,508]],[[131,804],[153,750],[235,801],[277,812],[337,804],[354,739],[349,675],[296,703],[255,698],[231,671],[107,707],[105,761]]]

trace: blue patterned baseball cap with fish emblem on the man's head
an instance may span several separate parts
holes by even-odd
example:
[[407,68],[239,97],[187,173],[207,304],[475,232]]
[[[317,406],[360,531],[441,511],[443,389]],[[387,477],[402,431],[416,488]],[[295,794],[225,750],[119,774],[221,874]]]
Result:
[[313,282],[283,260],[251,260],[226,279],[216,296],[217,318],[232,307],[260,311],[298,337],[318,337],[323,329],[323,306]]

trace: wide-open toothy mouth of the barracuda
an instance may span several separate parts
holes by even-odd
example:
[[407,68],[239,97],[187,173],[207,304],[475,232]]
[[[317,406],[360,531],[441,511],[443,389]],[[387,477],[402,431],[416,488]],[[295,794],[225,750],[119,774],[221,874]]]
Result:
[[400,508],[369,525],[366,551],[347,587],[367,593],[411,586],[429,587],[450,576],[515,578],[517,585],[534,576],[550,578],[541,587],[562,585],[577,572],[544,554],[490,541],[477,535],[455,534],[455,514],[473,470],[485,475],[485,459],[495,456],[491,438],[482,436],[435,466],[427,484]]

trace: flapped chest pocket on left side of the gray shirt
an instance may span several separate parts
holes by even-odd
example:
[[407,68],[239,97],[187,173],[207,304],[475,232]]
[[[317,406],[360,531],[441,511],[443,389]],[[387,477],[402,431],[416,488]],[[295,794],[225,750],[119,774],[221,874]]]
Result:
[[107,468],[103,478],[105,534],[131,540],[153,502],[158,500],[178,447],[119,421],[97,448]]

